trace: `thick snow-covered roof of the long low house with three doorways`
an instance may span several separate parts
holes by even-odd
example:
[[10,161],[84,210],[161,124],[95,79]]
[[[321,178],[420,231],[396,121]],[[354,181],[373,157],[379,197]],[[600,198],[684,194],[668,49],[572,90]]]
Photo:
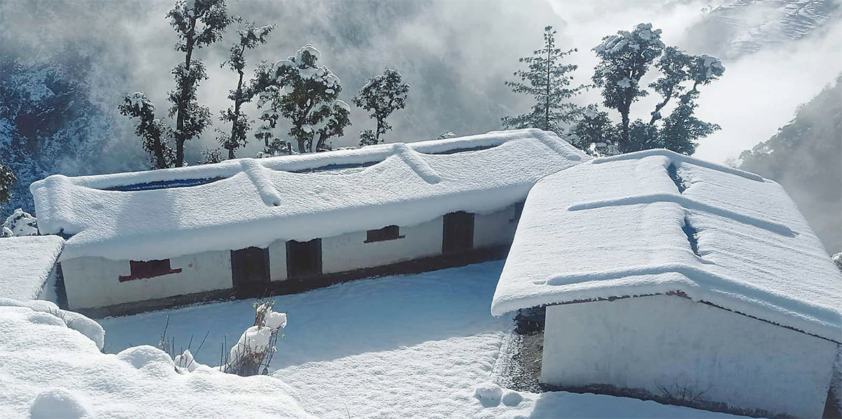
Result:
[[[525,199],[589,157],[541,130],[150,172],[35,182],[39,229],[70,236],[61,259],[151,260],[417,225]],[[190,186],[195,185],[195,186]]]

